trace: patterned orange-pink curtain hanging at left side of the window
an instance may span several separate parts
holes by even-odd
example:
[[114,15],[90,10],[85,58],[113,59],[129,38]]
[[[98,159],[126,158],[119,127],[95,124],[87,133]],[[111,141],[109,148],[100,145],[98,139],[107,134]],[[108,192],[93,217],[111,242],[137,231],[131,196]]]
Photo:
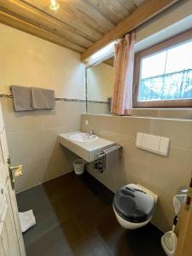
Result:
[[135,32],[115,44],[112,113],[131,114]]

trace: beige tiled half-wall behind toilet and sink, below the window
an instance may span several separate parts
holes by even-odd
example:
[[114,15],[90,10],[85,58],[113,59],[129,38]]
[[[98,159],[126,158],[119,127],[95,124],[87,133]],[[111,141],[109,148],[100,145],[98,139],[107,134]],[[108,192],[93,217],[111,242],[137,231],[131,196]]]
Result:
[[[89,125],[84,125],[85,119],[89,119]],[[159,196],[153,223],[160,230],[170,230],[172,196],[180,186],[188,185],[192,171],[192,120],[82,114],[81,130],[88,129],[123,146],[121,161],[113,170],[98,173],[90,164],[89,172],[113,191],[126,183],[151,189]],[[137,131],[169,137],[168,156],[136,148]]]

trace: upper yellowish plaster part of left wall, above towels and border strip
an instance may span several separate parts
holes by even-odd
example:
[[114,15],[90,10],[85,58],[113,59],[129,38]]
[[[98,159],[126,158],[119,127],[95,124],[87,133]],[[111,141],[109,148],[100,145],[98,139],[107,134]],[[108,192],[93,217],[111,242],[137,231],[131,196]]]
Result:
[[55,96],[84,99],[84,64],[79,53],[0,24],[0,91],[10,84],[55,90]]

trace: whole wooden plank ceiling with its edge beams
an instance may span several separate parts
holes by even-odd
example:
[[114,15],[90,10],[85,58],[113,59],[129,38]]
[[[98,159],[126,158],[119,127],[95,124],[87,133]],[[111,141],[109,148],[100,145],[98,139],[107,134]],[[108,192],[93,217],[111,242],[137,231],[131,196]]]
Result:
[[82,53],[82,60],[180,0],[0,0],[0,22]]

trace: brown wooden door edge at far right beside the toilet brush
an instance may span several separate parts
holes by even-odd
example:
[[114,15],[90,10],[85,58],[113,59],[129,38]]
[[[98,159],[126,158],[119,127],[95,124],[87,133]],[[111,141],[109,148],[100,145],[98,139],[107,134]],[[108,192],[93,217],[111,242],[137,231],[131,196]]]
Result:
[[176,256],[192,256],[192,178],[189,185],[188,200],[183,209]]

